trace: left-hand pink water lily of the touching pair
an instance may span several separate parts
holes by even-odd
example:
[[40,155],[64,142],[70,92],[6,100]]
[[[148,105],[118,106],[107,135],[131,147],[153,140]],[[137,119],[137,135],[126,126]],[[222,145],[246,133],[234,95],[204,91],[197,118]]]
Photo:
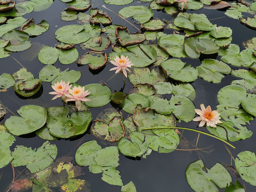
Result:
[[68,90],[70,89],[71,86],[72,85],[69,85],[69,82],[65,83],[65,81],[63,82],[62,80],[52,85],[52,89],[54,91],[49,93],[49,94],[55,94],[52,100],[61,97],[61,99],[66,102],[67,97],[65,96],[65,94],[68,94]]

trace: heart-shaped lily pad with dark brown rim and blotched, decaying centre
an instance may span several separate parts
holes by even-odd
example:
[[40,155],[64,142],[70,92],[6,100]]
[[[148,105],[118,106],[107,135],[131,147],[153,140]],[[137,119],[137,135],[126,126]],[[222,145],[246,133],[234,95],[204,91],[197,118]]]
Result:
[[115,116],[109,124],[99,119],[95,120],[91,126],[91,132],[103,141],[115,142],[124,136],[125,130],[122,118]]

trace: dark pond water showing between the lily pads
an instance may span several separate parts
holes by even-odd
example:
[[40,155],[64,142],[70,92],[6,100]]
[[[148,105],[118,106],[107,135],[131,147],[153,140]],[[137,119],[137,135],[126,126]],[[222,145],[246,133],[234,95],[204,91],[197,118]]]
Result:
[[[102,0],[93,1],[93,7],[99,7],[100,4],[103,4]],[[134,1],[134,5],[147,5],[149,3],[142,3]],[[129,4],[132,5],[132,4]],[[38,51],[41,49],[42,45],[54,46],[58,43],[55,39],[55,30],[59,27],[70,25],[76,23],[76,21],[62,21],[60,18],[60,12],[65,9],[65,3],[60,2],[59,0],[55,0],[52,6],[41,12],[32,12],[24,15],[24,18],[30,19],[33,17],[36,22],[41,21],[42,19],[48,21],[50,23],[50,29],[46,33],[36,37],[30,38],[33,46],[30,49],[12,53],[11,56],[17,59],[23,66],[25,66],[28,71],[30,71],[37,78],[39,71],[45,67],[41,62],[37,59]],[[123,6],[111,6],[107,5],[107,7],[115,12],[118,12]],[[88,12],[88,11],[87,11]],[[217,24],[218,26],[230,27],[233,29],[233,42],[238,44],[242,48],[242,42],[252,38],[255,35],[255,31],[253,29],[247,28],[242,25],[238,20],[234,20],[226,17],[224,11],[217,10],[206,10],[200,9],[197,11],[188,11],[193,13],[204,13],[207,18],[213,24]],[[113,19],[113,23],[124,25],[129,28],[131,32],[135,32],[136,29],[129,25],[129,23],[125,23],[124,20],[117,17],[114,13],[109,12],[110,17]],[[165,20],[172,20],[173,18],[170,15],[166,15],[161,11],[154,11],[155,18],[164,18]],[[220,18],[220,19],[216,19]],[[131,19],[129,21],[133,22]],[[139,25],[138,25],[139,27]],[[165,29],[164,33],[172,33],[172,30]],[[76,48],[79,51],[79,55],[85,53],[79,45],[76,45]],[[111,47],[105,51],[107,53],[111,52]],[[0,73],[9,73],[13,74],[15,71],[19,70],[21,66],[17,61],[15,61],[12,57],[8,57],[0,60]],[[211,58],[218,59],[218,55],[211,55]],[[182,61],[186,61],[187,63],[191,63],[192,66],[198,66],[201,64],[201,61],[204,58],[197,59],[189,59],[185,58]],[[72,63],[71,65],[61,65],[59,61],[54,64],[55,67],[65,70],[66,68],[80,70],[82,72],[82,77],[77,82],[78,84],[86,85],[90,83],[101,83],[101,81],[107,81],[111,76],[113,76],[113,71],[109,72],[109,69],[113,66],[110,63],[107,63],[106,67],[98,74],[92,73],[89,70],[88,66],[78,67],[76,63]],[[232,67],[235,69],[235,67]],[[196,108],[199,108],[200,103],[204,103],[205,106],[211,105],[212,108],[215,109],[215,106],[218,105],[217,102],[217,93],[221,89],[221,87],[229,85],[231,81],[233,81],[235,77],[228,75],[222,79],[220,84],[213,84],[206,81],[203,81],[201,78],[198,78],[195,82],[192,83],[196,90],[196,99],[194,100],[194,105]],[[121,75],[116,75],[112,78],[108,85],[111,91],[119,91],[123,87],[123,81]],[[132,84],[126,79],[126,86],[123,89],[124,93],[129,93],[131,90]],[[39,105],[42,107],[50,107],[50,106],[61,106],[60,100],[51,100],[52,95],[48,94],[51,89],[50,83],[43,83],[42,90],[37,93],[33,98],[24,99],[15,94],[14,90],[11,88],[7,92],[0,93],[0,100],[2,103],[7,106],[11,111],[15,114],[16,110],[24,105]],[[99,107],[99,108],[91,108],[90,111],[95,117],[104,109],[109,107],[116,107],[113,103],[108,103],[108,105]],[[128,114],[122,111],[124,117],[127,117]],[[4,124],[5,120],[9,118],[11,113],[8,113],[0,123]],[[255,130],[255,122],[251,122],[251,125],[248,125],[247,128],[254,132]],[[190,127],[193,129],[203,130],[204,128],[198,128],[198,123],[190,122],[190,123],[178,123],[177,126]],[[184,131],[181,137],[181,143],[178,148],[188,148],[194,149],[193,146],[189,144],[189,142],[195,145],[198,134],[194,132]],[[25,135],[23,137],[15,137],[17,141],[14,145],[25,145],[27,147],[39,147],[42,145],[45,140],[40,139],[35,134]],[[73,139],[60,139],[51,141],[58,147],[58,157],[70,155],[74,157],[77,148],[84,143],[85,141],[97,140],[93,137],[92,134],[87,132],[82,136],[73,138]],[[189,142],[188,142],[189,141]],[[253,135],[250,139],[233,142],[233,145],[236,146],[236,149],[230,149],[232,155],[236,157],[236,155],[243,150],[250,150],[256,153],[255,149],[256,138]],[[101,143],[100,141],[98,143]],[[101,143],[102,146],[104,146]],[[215,140],[213,138],[209,138],[207,136],[201,135],[198,141],[198,148],[209,147],[203,151],[179,151],[175,150],[170,154],[159,154],[153,151],[151,155],[149,155],[146,159],[132,159],[127,158],[120,154],[120,165],[117,167],[117,170],[120,171],[123,183],[128,183],[133,181],[134,185],[137,187],[137,191],[172,191],[172,192],[187,192],[193,191],[185,178],[185,170],[187,166],[196,161],[197,159],[202,159],[206,167],[211,167],[215,163],[219,162],[222,164],[230,165],[231,157],[228,153],[227,149],[223,145],[221,141]],[[11,150],[14,146],[11,148]],[[75,162],[74,162],[75,163]],[[234,164],[234,162],[233,162]],[[15,170],[22,171],[24,167],[15,167]],[[84,175],[79,177],[78,179],[85,179],[90,183],[90,189],[93,192],[99,191],[121,191],[121,187],[119,186],[111,186],[106,182],[101,180],[101,174],[92,174],[88,171],[87,167],[83,167]],[[0,191],[5,191],[5,189],[9,186],[9,183],[12,181],[12,168],[11,165],[7,165],[4,168],[0,169],[0,175],[2,176],[0,179]],[[243,183],[242,180],[240,180]],[[244,182],[245,188],[247,191],[256,191],[256,188],[251,186],[250,184]]]

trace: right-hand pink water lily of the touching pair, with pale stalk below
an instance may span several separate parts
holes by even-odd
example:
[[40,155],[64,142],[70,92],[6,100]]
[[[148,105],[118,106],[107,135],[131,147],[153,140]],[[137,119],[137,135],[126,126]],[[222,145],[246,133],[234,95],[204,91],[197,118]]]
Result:
[[68,92],[69,94],[65,94],[68,97],[67,101],[76,101],[78,111],[81,109],[81,101],[91,101],[91,99],[86,98],[91,92],[89,90],[84,91],[84,86],[74,86]]

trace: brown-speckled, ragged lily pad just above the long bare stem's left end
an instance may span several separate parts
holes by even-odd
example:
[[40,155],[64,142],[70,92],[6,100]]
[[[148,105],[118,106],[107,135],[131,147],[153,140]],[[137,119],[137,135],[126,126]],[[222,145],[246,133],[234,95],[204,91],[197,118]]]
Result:
[[[137,130],[141,132],[142,129],[150,127],[163,127],[170,126],[174,127],[176,122],[173,115],[162,115],[154,113],[152,109],[142,108],[138,105],[135,108],[135,113],[133,115],[133,122],[137,126]],[[153,134],[151,130],[142,131],[145,134]]]

